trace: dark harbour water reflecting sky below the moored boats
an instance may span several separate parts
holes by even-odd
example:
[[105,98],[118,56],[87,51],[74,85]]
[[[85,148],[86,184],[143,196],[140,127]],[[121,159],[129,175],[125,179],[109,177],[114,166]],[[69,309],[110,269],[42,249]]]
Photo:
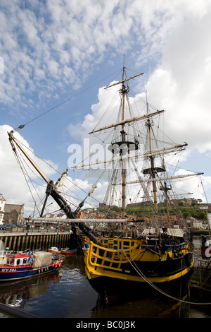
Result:
[[[188,300],[186,294],[182,296]],[[181,303],[158,291],[139,300],[106,305],[89,285],[80,254],[63,256],[62,266],[54,273],[1,283],[0,303],[37,318],[211,318],[209,305]],[[1,318],[8,316],[1,313]]]

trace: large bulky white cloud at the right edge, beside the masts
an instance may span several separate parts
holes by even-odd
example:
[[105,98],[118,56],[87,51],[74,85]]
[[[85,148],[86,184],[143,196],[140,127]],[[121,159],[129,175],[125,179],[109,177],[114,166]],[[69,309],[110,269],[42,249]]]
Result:
[[165,44],[162,62],[147,85],[153,105],[169,111],[168,131],[200,152],[211,148],[211,42],[205,32],[210,28],[210,13],[181,25]]

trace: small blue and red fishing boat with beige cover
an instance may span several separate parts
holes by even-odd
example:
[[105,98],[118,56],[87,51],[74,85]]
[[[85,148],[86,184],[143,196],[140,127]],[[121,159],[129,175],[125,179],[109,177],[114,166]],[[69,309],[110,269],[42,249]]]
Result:
[[53,261],[46,251],[19,251],[9,254],[5,264],[0,266],[0,282],[29,278],[55,271],[62,261]]

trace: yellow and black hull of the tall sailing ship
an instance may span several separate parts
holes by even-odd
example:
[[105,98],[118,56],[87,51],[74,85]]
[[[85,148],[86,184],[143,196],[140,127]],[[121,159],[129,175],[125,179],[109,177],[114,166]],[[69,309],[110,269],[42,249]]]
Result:
[[142,292],[143,285],[165,285],[184,280],[193,268],[188,244],[160,249],[143,239],[102,238],[102,246],[90,242],[85,252],[86,274],[104,298],[122,295],[124,288]]

